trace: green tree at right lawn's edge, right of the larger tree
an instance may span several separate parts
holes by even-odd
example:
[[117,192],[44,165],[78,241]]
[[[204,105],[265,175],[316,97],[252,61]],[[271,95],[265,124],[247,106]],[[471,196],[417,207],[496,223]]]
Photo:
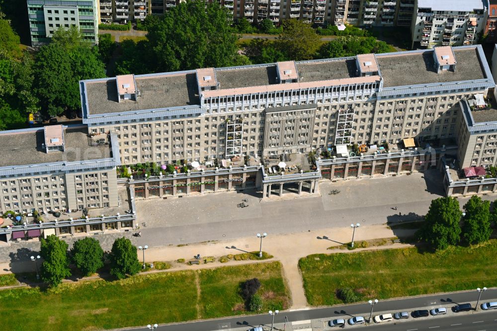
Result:
[[492,235],[490,201],[473,195],[463,208],[466,213],[462,227],[464,241],[470,245],[488,241]]

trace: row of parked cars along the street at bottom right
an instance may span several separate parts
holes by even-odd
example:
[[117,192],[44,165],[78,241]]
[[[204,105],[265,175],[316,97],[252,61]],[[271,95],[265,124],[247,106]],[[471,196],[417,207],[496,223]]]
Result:
[[[481,305],[483,310],[489,310],[489,309],[497,309],[497,302],[486,302]],[[459,313],[459,312],[467,312],[472,310],[472,306],[469,303],[465,304],[459,304],[454,307],[452,307],[452,311],[454,313]],[[420,309],[420,310],[415,310],[411,314],[409,312],[398,312],[395,314],[383,314],[383,315],[377,315],[373,318],[374,323],[383,323],[383,322],[390,322],[393,320],[402,320],[402,319],[408,319],[409,316],[411,315],[413,318],[419,318],[419,317],[428,317],[428,316],[438,316],[438,315],[445,315],[447,314],[447,308],[440,307],[440,308],[434,308],[432,310],[425,310],[425,309]],[[334,327],[341,327],[344,328],[346,324],[349,325],[357,325],[357,324],[364,324],[366,323],[366,320],[362,316],[355,316],[347,321],[345,319],[335,319],[331,320],[328,322],[328,326],[331,328]]]

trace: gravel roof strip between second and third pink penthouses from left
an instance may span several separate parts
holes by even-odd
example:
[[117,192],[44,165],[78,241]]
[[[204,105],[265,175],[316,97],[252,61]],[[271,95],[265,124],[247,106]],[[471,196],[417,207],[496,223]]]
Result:
[[220,89],[271,85],[276,83],[276,66],[243,69],[216,69]]

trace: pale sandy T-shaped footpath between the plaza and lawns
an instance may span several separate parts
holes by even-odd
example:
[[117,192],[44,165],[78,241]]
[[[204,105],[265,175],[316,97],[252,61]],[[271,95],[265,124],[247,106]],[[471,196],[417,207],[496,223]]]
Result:
[[[354,237],[354,242],[371,239],[391,238],[400,235],[410,235],[413,230],[396,230],[395,234],[388,229],[386,225],[371,225],[360,227]],[[322,239],[327,237],[328,239]],[[315,253],[332,253],[332,252],[350,252],[345,249],[330,250],[331,246],[340,246],[342,243],[350,242],[352,230],[350,228],[330,228],[317,231],[309,231],[303,233],[291,233],[282,235],[271,235],[262,239],[262,250],[268,252],[274,257],[269,260],[278,260],[282,263],[284,276],[288,282],[289,290],[292,298],[291,309],[299,309],[307,307],[307,300],[304,294],[302,285],[302,276],[298,268],[298,261],[301,257]],[[319,239],[318,239],[319,238]],[[184,258],[186,261],[192,259],[194,255],[200,256],[215,256],[219,257],[227,254],[239,254],[246,251],[258,251],[260,240],[254,235],[249,238],[241,238],[228,241],[215,241],[198,244],[190,244],[187,246],[166,246],[158,248],[149,248],[145,251],[145,260],[153,261],[175,261],[178,258]],[[385,248],[400,248],[408,247],[405,244],[394,244]],[[381,247],[373,248],[357,248],[353,251],[365,249],[381,249]],[[139,252],[139,259],[142,254]],[[221,263],[215,261],[201,265],[174,266],[167,271],[212,268],[226,265],[237,265],[246,263],[256,263],[258,261],[230,261]],[[33,265],[31,261],[0,263],[0,274],[10,273],[11,268],[16,272],[32,272]]]

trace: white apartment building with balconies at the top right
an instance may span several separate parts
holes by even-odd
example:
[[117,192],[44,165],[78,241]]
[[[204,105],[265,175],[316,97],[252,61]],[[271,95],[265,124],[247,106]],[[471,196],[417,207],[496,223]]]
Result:
[[413,48],[473,45],[484,31],[487,0],[417,0],[411,26]]

